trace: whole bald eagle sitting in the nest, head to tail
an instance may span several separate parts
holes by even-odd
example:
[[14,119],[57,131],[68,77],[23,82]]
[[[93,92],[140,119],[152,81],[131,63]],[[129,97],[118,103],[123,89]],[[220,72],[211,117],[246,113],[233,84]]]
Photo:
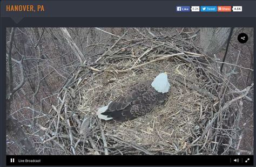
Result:
[[99,108],[98,118],[121,122],[133,120],[163,104],[169,96],[169,90],[167,73],[161,73],[154,80],[134,84],[124,95],[110,101],[107,106]]

